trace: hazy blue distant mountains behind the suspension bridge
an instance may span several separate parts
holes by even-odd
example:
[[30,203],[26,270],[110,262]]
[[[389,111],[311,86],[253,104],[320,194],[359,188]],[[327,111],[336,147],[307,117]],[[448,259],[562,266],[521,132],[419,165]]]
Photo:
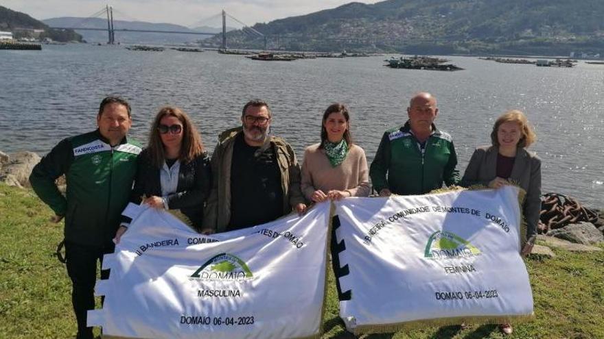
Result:
[[[84,27],[84,28],[107,28],[107,21],[104,18],[78,18],[66,16],[60,18],[48,18],[43,22],[51,27]],[[115,29],[144,29],[149,31],[176,31],[176,32],[204,32],[218,34],[222,32],[222,27],[189,27],[174,25],[172,23],[147,23],[143,21],[121,21],[114,20]],[[227,30],[233,30],[227,27]],[[75,29],[76,32],[84,37],[87,42],[106,42],[108,40],[106,31],[88,31],[84,29]],[[147,43],[155,45],[181,44],[185,42],[196,42],[204,40],[211,36],[194,34],[172,34],[172,33],[144,33],[144,32],[115,32],[115,41],[122,43]]]

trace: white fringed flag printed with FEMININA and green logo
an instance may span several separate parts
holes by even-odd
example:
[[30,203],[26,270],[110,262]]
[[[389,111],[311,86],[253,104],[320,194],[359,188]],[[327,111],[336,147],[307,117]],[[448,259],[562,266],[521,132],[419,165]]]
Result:
[[343,199],[336,214],[340,317],[350,331],[533,314],[517,188]]

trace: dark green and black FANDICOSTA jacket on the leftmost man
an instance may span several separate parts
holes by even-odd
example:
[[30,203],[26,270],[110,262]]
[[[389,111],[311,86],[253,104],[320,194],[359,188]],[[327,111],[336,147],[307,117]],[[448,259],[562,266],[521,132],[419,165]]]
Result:
[[[65,216],[65,240],[98,247],[111,243],[140,152],[140,144],[130,138],[111,147],[97,129],[62,140],[34,167],[32,187],[58,216]],[[63,174],[66,197],[55,184]]]

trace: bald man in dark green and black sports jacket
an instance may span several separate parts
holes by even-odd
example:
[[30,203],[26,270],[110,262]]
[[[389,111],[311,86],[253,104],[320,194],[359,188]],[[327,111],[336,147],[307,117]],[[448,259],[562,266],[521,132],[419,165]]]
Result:
[[451,136],[434,125],[439,109],[430,93],[420,92],[409,103],[409,120],[388,129],[377,148],[369,175],[373,188],[391,194],[426,194],[457,184],[457,155]]

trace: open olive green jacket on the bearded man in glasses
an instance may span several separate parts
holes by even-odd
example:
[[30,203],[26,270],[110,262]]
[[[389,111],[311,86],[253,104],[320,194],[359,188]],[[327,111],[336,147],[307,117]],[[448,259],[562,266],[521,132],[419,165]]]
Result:
[[[231,161],[237,134],[243,133],[242,127],[227,129],[218,137],[211,160],[212,190],[204,213],[203,232],[222,232],[231,221]],[[298,203],[305,203],[300,189],[300,166],[292,147],[277,136],[269,136],[262,145],[266,149],[273,147],[277,155],[283,189],[283,212],[288,214]]]

